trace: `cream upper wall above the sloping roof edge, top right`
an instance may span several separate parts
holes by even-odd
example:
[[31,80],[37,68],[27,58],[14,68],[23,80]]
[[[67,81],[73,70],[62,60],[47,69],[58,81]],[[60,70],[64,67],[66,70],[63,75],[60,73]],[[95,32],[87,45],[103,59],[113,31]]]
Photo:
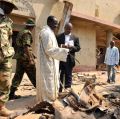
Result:
[[120,0],[68,0],[73,3],[73,11],[120,25]]

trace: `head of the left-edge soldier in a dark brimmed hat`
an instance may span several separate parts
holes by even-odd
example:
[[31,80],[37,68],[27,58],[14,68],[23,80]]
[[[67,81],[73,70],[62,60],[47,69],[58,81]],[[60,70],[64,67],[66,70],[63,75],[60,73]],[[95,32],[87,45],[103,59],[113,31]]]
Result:
[[5,14],[10,14],[13,9],[18,9],[12,0],[0,0],[0,8],[4,10]]

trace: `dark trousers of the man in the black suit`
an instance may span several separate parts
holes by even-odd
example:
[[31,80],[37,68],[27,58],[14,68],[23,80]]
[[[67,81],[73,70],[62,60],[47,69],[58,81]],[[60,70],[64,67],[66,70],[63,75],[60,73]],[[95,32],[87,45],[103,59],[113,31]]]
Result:
[[[73,67],[68,62],[60,64],[60,81],[65,88],[70,88],[72,84],[72,70]],[[62,85],[60,83],[59,92],[62,92]]]

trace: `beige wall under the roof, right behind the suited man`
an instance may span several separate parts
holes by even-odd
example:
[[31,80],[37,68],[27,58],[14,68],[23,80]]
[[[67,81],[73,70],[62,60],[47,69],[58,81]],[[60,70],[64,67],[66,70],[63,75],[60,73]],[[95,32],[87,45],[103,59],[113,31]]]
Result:
[[[96,66],[96,30],[91,24],[79,21],[71,21],[73,23],[73,33],[80,39],[80,52],[76,53],[76,58],[80,64],[76,62],[74,71],[94,70]],[[80,65],[80,67],[79,67]]]

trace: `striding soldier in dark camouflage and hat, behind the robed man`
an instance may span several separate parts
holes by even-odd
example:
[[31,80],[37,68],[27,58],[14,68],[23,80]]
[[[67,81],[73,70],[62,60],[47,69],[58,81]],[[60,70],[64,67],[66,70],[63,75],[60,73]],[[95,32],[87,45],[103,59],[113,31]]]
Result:
[[36,87],[36,67],[35,67],[35,56],[32,51],[32,29],[35,23],[33,19],[28,19],[26,27],[22,30],[16,38],[16,54],[17,59],[16,73],[12,80],[12,87],[10,93],[10,99],[19,98],[20,96],[15,95],[17,87],[20,85],[23,74],[27,73],[31,83]]

